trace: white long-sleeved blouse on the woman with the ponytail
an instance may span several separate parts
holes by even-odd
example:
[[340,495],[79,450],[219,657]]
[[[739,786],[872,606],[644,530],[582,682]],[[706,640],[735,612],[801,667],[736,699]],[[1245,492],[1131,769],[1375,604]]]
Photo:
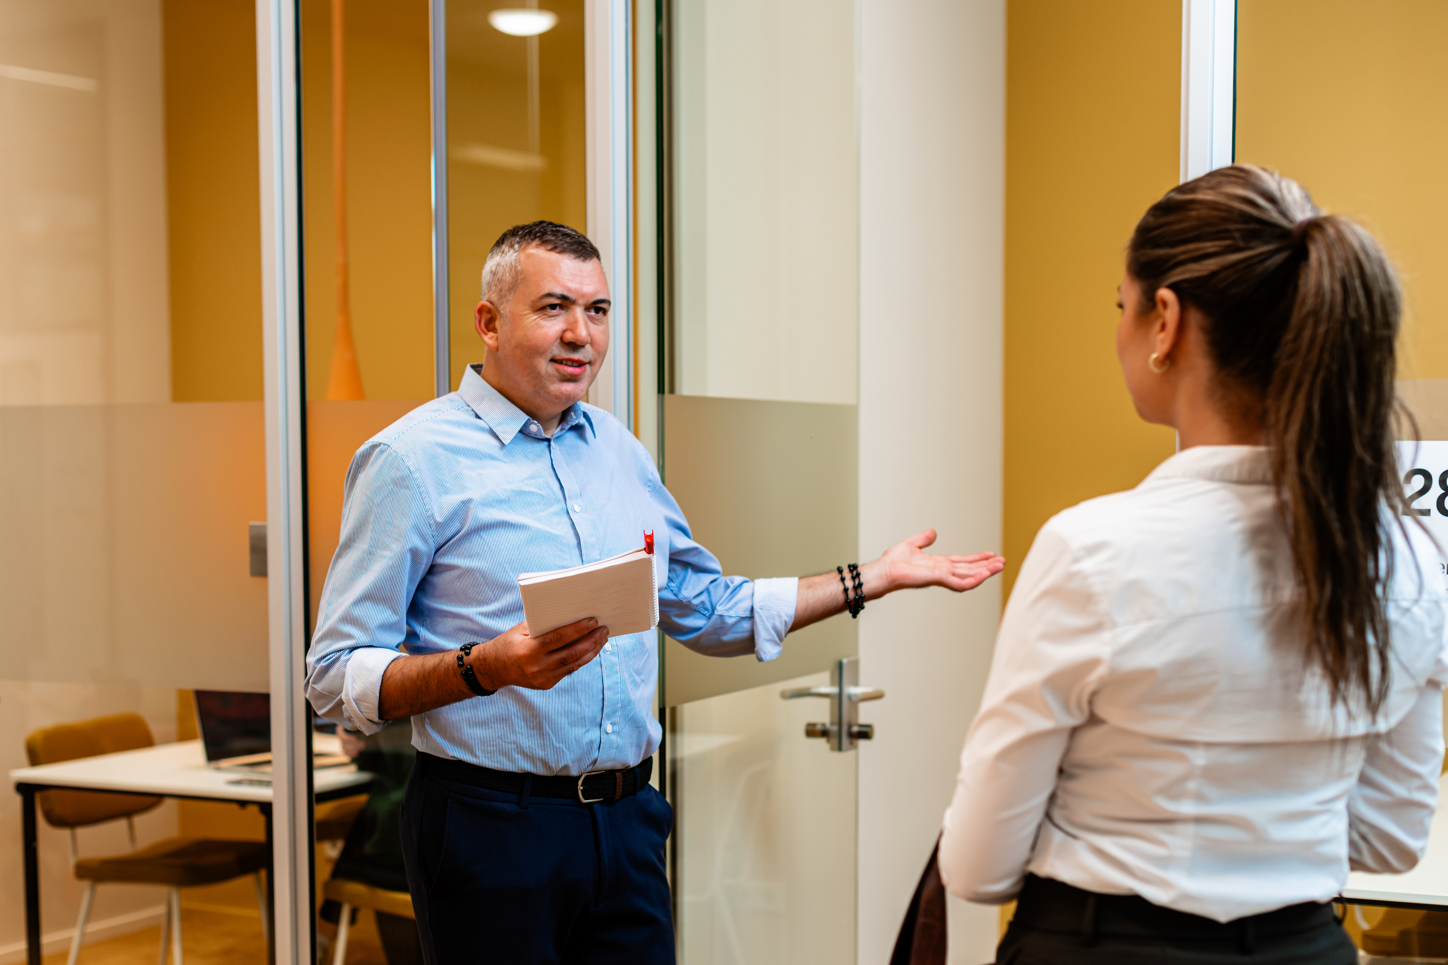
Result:
[[1334,707],[1267,459],[1189,449],[1041,528],[946,812],[953,894],[1003,903],[1031,871],[1229,922],[1422,856],[1448,681],[1436,550],[1399,538],[1377,719]]

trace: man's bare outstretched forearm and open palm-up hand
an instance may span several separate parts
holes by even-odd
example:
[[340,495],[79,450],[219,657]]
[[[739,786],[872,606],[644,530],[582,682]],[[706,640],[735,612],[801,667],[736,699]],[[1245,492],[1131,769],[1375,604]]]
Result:
[[[964,593],[973,590],[1005,569],[1005,560],[995,553],[967,553],[966,556],[937,556],[925,553],[935,543],[935,531],[901,540],[880,558],[860,567],[860,583],[864,599],[873,600],[895,590],[922,586],[944,586],[947,590]],[[844,587],[838,573],[821,573],[799,580],[799,596],[795,602],[795,622],[791,631],[808,626],[825,616],[844,611]]]

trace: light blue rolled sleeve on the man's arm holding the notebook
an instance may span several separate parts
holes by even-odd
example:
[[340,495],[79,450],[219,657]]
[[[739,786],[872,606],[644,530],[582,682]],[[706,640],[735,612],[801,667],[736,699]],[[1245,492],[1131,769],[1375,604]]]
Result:
[[407,609],[436,538],[417,477],[390,446],[369,443],[348,469],[342,532],[307,652],[307,699],[336,723],[375,734],[382,674],[401,657]]

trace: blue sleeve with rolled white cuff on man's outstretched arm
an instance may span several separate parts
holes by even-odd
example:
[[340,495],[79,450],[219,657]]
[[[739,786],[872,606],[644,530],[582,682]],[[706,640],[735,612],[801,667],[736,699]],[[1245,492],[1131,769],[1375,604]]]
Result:
[[795,622],[799,579],[724,576],[718,558],[694,541],[683,511],[657,476],[650,483],[669,528],[669,576],[659,590],[659,625],[707,657],[754,654],[760,663],[778,657]]

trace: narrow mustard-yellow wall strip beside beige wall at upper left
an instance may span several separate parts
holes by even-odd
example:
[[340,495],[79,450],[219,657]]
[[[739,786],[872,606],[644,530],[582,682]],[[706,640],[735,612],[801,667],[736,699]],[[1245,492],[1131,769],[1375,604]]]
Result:
[[262,398],[256,4],[164,0],[171,398]]

